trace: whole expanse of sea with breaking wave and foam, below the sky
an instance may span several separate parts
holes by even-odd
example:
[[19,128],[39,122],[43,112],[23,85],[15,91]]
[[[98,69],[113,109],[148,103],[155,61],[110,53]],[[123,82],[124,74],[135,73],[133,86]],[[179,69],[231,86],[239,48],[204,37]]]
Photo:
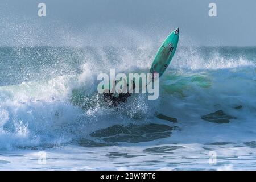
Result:
[[156,51],[1,47],[0,170],[256,170],[256,47],[178,46],[158,100],[108,107],[97,75]]

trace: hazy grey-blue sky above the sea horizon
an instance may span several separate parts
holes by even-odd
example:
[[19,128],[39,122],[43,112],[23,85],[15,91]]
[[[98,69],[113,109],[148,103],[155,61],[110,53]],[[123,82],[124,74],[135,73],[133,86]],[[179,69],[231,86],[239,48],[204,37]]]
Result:
[[[0,45],[256,46],[255,0],[0,0]],[[46,4],[46,17],[38,4]],[[216,3],[217,16],[208,15]]]

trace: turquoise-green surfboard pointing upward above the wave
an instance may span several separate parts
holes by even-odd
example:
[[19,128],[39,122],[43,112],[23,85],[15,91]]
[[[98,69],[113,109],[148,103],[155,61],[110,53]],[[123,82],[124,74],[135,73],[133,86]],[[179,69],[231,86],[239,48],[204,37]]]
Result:
[[162,45],[159,47],[158,52],[156,52],[155,59],[150,68],[150,73],[152,73],[152,81],[154,81],[155,73],[158,73],[160,78],[164,71],[166,71],[166,68],[171,63],[172,57],[174,57],[178,42],[179,28],[176,28],[167,36]]

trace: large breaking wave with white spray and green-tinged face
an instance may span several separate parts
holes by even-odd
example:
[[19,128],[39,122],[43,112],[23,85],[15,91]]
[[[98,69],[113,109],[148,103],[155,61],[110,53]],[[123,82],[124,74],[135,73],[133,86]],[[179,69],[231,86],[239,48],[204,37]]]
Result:
[[[23,56],[18,57],[24,59],[20,63],[26,64],[33,49],[38,50],[28,48],[30,53],[27,55],[27,49],[19,50]],[[14,80],[7,74],[1,75],[1,80],[6,82],[0,87],[0,148],[79,144],[81,138],[97,142],[98,138],[90,134],[100,129],[112,129],[115,125],[126,130],[126,125],[147,126],[162,122],[155,113],[177,118],[182,132],[175,131],[179,135],[171,136],[177,142],[187,141],[187,136],[191,142],[212,142],[214,135],[220,140],[245,140],[245,135],[248,140],[255,136],[255,62],[243,52],[232,55],[230,52],[237,52],[236,48],[224,53],[211,51],[213,48],[180,48],[160,78],[158,100],[149,101],[145,94],[135,94],[118,109],[106,106],[101,94],[97,93],[97,74],[109,73],[110,68],[125,73],[147,72],[154,58],[152,48],[85,48],[75,49],[75,53],[69,48],[71,55],[68,59],[60,54],[66,49],[51,49],[51,53],[47,53],[52,55],[52,51],[56,51],[53,55],[61,57],[60,63],[67,61],[64,67],[55,67],[59,70],[50,77],[46,75],[52,73],[56,56],[48,56],[49,60],[44,61],[48,65],[43,71],[40,71],[40,61],[24,65],[28,69],[34,68],[30,69],[31,75],[38,75],[29,79],[24,79],[26,76],[23,75],[18,84],[13,84]],[[38,53],[33,55],[34,60]],[[72,69],[67,71],[69,65]],[[7,62],[2,67],[7,67]],[[19,67],[13,69],[18,78],[24,71]],[[242,109],[234,109],[240,105]],[[226,127],[211,130],[212,123],[201,117],[217,110],[236,119],[231,119]],[[201,131],[204,132],[191,136],[191,133]],[[237,134],[236,139],[228,135],[230,132]],[[153,134],[159,138],[155,131]],[[208,137],[200,138],[203,135]],[[134,136],[129,134],[129,141],[133,141]],[[115,142],[111,137],[109,139],[108,142]],[[117,137],[114,139],[118,140]]]

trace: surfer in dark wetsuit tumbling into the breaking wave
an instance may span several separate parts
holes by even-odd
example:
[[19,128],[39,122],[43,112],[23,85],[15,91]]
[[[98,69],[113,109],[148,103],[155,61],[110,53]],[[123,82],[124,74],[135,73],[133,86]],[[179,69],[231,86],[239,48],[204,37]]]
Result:
[[[128,84],[127,84],[127,88],[129,88]],[[127,93],[123,93],[121,92],[121,90],[119,90],[118,97],[113,96],[113,93],[110,93],[110,90],[104,90],[103,99],[109,106],[117,107],[119,104],[127,102],[134,88],[135,88],[135,84],[133,82],[133,88],[131,88],[131,90],[129,90],[129,92]]]

